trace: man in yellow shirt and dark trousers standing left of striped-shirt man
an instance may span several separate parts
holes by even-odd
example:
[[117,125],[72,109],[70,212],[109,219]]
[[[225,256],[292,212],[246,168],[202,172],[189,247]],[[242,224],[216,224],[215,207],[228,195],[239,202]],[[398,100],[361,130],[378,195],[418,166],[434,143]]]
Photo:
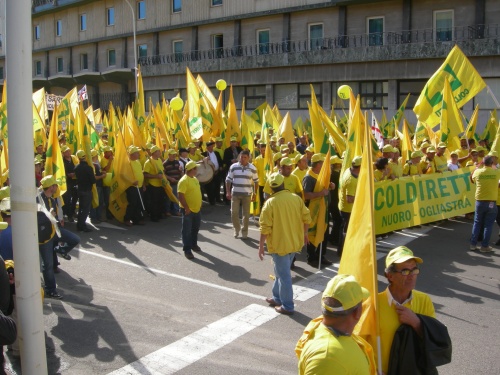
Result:
[[186,164],[186,174],[177,186],[177,195],[182,213],[182,249],[187,259],[194,259],[192,251],[201,251],[198,232],[201,225],[201,189],[196,179],[196,162]]

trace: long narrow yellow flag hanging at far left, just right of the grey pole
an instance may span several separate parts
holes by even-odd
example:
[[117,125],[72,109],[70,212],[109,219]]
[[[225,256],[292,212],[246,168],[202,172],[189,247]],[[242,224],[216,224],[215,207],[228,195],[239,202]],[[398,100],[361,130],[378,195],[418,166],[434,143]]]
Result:
[[[33,110],[36,111],[36,108],[33,108]],[[43,174],[44,176],[54,176],[57,181],[57,185],[59,186],[59,194],[62,195],[66,192],[67,186],[64,161],[61,147],[59,146],[59,138],[57,136],[57,104],[55,105],[54,115],[52,116],[52,121],[50,123],[49,139],[45,155],[47,158],[45,160],[45,170]]]

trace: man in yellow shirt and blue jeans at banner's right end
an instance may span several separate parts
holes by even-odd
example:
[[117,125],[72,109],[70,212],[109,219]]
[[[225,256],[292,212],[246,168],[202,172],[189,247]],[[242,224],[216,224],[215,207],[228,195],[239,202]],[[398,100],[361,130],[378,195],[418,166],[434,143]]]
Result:
[[[489,245],[493,224],[497,217],[498,189],[500,188],[500,170],[493,169],[493,157],[488,155],[483,160],[484,167],[476,167],[470,180],[476,184],[476,210],[474,225],[470,239],[470,250],[479,250],[482,253],[491,253]],[[483,231],[481,248],[477,248],[478,237]]]

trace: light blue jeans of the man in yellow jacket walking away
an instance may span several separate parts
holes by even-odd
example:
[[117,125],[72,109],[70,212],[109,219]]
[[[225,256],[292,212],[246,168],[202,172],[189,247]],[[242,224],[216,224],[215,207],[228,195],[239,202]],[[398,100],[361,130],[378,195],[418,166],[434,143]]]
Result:
[[276,276],[273,284],[273,299],[277,304],[281,304],[285,310],[293,311],[292,273],[290,272],[290,265],[295,257],[295,253],[270,255],[273,257],[274,275]]

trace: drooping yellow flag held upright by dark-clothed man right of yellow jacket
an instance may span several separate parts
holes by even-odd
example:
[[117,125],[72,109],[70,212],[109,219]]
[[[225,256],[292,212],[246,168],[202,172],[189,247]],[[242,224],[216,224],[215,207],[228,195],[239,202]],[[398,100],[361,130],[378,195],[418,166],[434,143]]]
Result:
[[[309,173],[309,172],[308,172]],[[330,186],[330,150],[326,154],[325,161],[316,180],[314,192],[320,192],[328,189]],[[311,212],[311,225],[309,226],[309,242],[318,246],[325,239],[325,231],[328,227],[328,209],[327,196],[311,199],[309,202],[309,211]]]

